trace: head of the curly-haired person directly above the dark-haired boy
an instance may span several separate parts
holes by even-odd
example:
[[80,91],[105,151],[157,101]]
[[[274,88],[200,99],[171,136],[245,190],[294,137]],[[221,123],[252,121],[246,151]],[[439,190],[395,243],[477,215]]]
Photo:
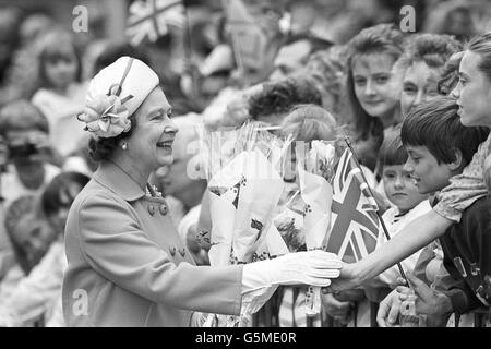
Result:
[[462,44],[447,35],[417,34],[411,38],[395,65],[403,75],[403,118],[421,101],[439,96],[438,82],[445,62],[460,49]]

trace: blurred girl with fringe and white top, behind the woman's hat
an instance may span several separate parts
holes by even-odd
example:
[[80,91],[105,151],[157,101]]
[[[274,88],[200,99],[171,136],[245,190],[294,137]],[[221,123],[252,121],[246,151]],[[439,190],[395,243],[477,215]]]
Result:
[[81,53],[71,35],[59,29],[40,37],[38,45],[40,88],[32,101],[48,119],[56,148],[67,156],[86,137],[73,117],[83,110],[85,100]]

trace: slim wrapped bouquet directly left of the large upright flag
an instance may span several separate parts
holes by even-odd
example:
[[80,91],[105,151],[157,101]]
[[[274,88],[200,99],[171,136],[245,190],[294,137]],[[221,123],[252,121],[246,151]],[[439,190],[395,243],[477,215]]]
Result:
[[[332,181],[335,174],[336,152],[333,142],[312,141],[307,156],[298,163],[300,195],[306,206],[303,233],[307,250],[325,250],[331,228]],[[309,286],[306,314],[321,312],[321,289]]]

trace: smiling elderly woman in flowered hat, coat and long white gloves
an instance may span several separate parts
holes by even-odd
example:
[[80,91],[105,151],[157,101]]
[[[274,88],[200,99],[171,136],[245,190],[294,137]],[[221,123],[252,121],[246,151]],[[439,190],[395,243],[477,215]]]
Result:
[[136,59],[122,57],[91,81],[77,118],[100,163],[65,228],[69,326],[189,326],[202,312],[238,315],[274,285],[323,287],[339,275],[340,262],[323,251],[196,266],[165,200],[147,184],[172,161],[178,130],[170,115],[157,75]]

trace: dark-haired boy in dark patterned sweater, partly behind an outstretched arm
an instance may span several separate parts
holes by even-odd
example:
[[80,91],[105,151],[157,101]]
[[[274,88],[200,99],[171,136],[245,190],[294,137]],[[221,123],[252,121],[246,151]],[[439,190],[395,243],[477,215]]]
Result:
[[[450,179],[462,173],[463,169],[470,163],[474,153],[482,143],[489,130],[486,128],[466,128],[459,121],[457,113],[458,106],[455,100],[448,97],[440,97],[418,106],[412,110],[403,123],[402,140],[408,153],[408,160],[405,169],[411,173],[415,184],[421,194],[434,195],[440,190],[448,185]],[[435,196],[435,195],[434,195]],[[433,197],[432,204],[436,204]],[[454,253],[450,252],[448,243],[455,243],[455,236],[468,237],[469,234],[483,233],[488,227],[489,215],[482,210],[483,200],[478,200],[474,205],[464,212],[459,224],[447,229],[441,239],[443,253],[445,255],[444,266],[452,277],[445,276],[442,269],[442,261],[433,248],[428,248],[421,253],[415,274],[422,279],[419,280],[412,275],[408,275],[409,281],[421,290],[419,305],[429,301],[430,294],[432,303],[426,304],[424,310],[428,315],[442,316],[452,311],[464,312],[479,305],[476,297],[469,289],[469,284],[463,282],[463,277],[455,272],[454,261],[450,260]],[[479,231],[479,232],[478,232]],[[458,242],[457,242],[458,245]],[[455,246],[459,250],[457,246]],[[467,256],[467,255],[466,255]],[[466,263],[467,258],[464,257]],[[458,260],[456,260],[458,261]],[[460,268],[460,264],[458,268]],[[465,269],[465,267],[464,267]],[[470,273],[469,273],[470,274]],[[467,281],[467,280],[466,280]],[[433,284],[430,289],[426,284]],[[408,290],[399,288],[404,294]],[[397,311],[390,309],[397,308],[398,296],[395,292],[384,299],[381,303],[378,322],[381,326],[390,326],[395,323]],[[392,299],[394,297],[394,299]],[[405,296],[402,299],[406,299]],[[419,309],[422,311],[422,309]],[[418,309],[417,309],[418,311]]]

